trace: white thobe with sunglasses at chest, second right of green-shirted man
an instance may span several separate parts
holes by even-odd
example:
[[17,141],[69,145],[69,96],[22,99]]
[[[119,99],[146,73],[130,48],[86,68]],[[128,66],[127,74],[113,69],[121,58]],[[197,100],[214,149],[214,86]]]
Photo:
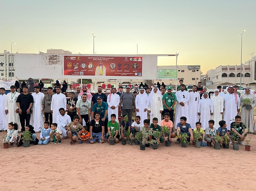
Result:
[[196,122],[199,121],[199,116],[197,113],[197,107],[200,100],[200,94],[198,92],[189,93],[188,101],[188,117],[192,129],[196,128]]

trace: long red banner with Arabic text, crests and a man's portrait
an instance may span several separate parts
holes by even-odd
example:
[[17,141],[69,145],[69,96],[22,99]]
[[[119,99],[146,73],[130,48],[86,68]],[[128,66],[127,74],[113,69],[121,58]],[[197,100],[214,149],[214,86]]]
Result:
[[142,57],[64,55],[63,75],[142,76]]

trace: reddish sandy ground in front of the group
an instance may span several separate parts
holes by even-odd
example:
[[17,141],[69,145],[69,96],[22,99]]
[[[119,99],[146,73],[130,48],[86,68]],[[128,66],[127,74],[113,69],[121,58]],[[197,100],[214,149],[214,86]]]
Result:
[[[2,137],[5,132],[1,132]],[[39,137],[39,133],[37,133]],[[251,151],[213,147],[62,144],[0,147],[0,190],[255,190],[256,135]],[[174,140],[174,139],[173,139]]]

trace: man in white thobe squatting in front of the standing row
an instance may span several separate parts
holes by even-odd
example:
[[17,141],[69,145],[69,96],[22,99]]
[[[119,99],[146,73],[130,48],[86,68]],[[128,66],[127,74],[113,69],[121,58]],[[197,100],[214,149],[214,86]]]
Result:
[[59,109],[59,114],[60,115],[57,116],[57,122],[56,122],[58,124],[57,128],[62,131],[63,138],[68,137],[66,128],[67,128],[67,125],[71,122],[70,116],[68,116],[65,113],[66,113],[66,109],[64,111],[64,108],[60,108]]

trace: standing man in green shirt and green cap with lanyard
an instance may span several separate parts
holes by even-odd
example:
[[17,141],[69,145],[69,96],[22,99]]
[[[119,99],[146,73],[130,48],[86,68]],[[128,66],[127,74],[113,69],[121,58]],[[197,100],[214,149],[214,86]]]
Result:
[[163,95],[163,113],[170,114],[170,120],[174,123],[174,105],[177,101],[177,97],[174,93],[172,93],[172,87],[169,86],[167,88],[168,92]]

